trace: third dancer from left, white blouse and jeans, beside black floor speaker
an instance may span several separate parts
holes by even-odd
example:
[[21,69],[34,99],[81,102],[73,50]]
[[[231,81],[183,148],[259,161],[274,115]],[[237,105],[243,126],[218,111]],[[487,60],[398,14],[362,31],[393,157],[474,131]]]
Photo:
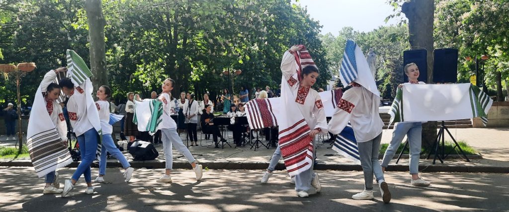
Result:
[[115,145],[115,141],[111,137],[113,132],[113,126],[109,124],[109,112],[110,104],[107,99],[111,97],[111,89],[107,85],[103,85],[97,89],[96,97],[99,101],[95,102],[97,110],[99,111],[99,119],[101,120],[102,130],[102,147],[101,147],[101,160],[99,161],[99,176],[94,180],[97,183],[104,182],[103,176],[106,175],[106,151],[112,156],[115,156],[117,160],[124,167],[125,181],[128,182],[131,179],[134,168],[127,161],[124,154]]

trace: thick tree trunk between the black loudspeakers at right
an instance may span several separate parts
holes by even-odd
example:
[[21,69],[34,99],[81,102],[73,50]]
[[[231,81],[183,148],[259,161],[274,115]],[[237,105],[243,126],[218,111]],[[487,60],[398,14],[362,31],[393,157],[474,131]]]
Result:
[[[433,0],[411,0],[401,11],[408,18],[409,42],[412,49],[428,50],[428,82],[433,83]],[[430,149],[437,136],[437,122],[422,125],[422,147]]]

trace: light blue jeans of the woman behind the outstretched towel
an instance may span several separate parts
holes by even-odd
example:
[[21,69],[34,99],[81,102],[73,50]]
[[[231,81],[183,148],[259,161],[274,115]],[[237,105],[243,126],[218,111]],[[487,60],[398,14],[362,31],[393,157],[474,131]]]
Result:
[[410,161],[408,162],[410,174],[417,174],[419,173],[420,147],[422,142],[422,124],[420,122],[403,122],[398,123],[394,127],[392,140],[390,140],[389,147],[387,147],[383,156],[382,166],[389,166],[390,160],[394,157],[405,135],[407,135],[408,144],[410,145]]

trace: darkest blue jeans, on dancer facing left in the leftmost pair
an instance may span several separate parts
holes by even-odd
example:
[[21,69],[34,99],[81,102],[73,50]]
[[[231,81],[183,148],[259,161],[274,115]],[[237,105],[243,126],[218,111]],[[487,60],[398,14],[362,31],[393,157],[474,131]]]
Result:
[[83,174],[83,177],[87,183],[92,182],[90,165],[96,159],[98,136],[99,134],[97,134],[97,131],[94,128],[91,128],[87,132],[77,137],[79,152],[81,154],[81,163],[79,163],[78,168],[76,168],[76,171],[74,171],[72,179],[78,181],[81,174]]

